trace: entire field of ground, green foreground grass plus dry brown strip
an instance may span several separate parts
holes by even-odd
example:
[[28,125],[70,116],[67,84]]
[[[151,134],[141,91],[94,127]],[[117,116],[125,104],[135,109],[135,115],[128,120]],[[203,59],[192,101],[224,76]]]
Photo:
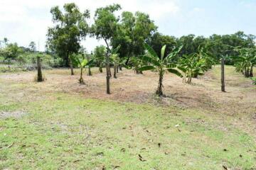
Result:
[[[119,72],[105,94],[93,69],[0,74],[0,169],[256,169],[256,86],[226,67],[193,84]],[[255,73],[256,74],[256,73]]]

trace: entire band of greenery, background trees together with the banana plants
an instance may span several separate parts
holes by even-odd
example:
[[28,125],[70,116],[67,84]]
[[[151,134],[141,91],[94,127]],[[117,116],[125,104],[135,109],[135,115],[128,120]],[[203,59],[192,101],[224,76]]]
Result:
[[[110,94],[110,78],[114,68],[114,78],[122,67],[132,68],[137,74],[146,70],[159,72],[159,88],[156,94],[161,96],[162,80],[165,72],[171,72],[191,83],[192,78],[204,74],[214,64],[234,64],[237,71],[245,77],[253,77],[253,67],[256,64],[255,35],[246,35],[242,31],[231,35],[213,34],[206,38],[196,35],[184,35],[176,38],[158,32],[158,27],[148,14],[137,11],[132,13],[121,10],[119,4],[97,8],[92,25],[88,20],[92,16],[89,10],[81,12],[74,3],[51,8],[54,26],[48,28],[46,52],[36,52],[36,44],[31,42],[28,49],[18,47],[16,43],[9,44],[4,39],[0,56],[4,61],[26,58],[21,54],[33,54],[46,62],[50,56],[50,64],[55,66],[80,68],[80,83],[82,70],[87,67],[106,68],[107,94]],[[92,52],[82,47],[82,40],[94,37],[103,40],[105,46],[97,46]],[[26,51],[27,53],[24,53]],[[29,55],[27,55],[29,56]],[[24,60],[26,61],[26,60]],[[40,60],[41,61],[41,60]]]

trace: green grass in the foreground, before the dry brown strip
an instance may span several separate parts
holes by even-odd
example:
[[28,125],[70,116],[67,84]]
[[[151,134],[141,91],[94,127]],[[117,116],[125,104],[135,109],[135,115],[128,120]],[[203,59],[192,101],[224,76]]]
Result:
[[16,104],[0,107],[27,113],[0,120],[0,169],[255,168],[255,139],[218,115],[68,94]]

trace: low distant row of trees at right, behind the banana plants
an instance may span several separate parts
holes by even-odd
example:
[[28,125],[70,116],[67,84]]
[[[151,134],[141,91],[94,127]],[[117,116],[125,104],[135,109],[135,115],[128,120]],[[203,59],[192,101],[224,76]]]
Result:
[[[215,60],[220,60],[223,55],[238,56],[236,47],[255,48],[255,35],[246,35],[242,31],[231,35],[213,34],[209,38],[196,35],[183,35],[181,38],[175,38],[161,33],[154,33],[148,43],[160,54],[161,46],[166,45],[168,53],[173,47],[183,45],[179,57],[191,55],[198,52],[198,48],[203,47]],[[234,64],[233,60],[226,61],[226,64]]]

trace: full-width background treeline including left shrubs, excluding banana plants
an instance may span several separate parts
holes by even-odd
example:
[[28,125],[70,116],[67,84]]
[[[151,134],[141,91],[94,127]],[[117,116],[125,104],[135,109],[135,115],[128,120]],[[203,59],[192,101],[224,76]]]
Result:
[[[50,10],[54,26],[48,28],[46,52],[37,52],[35,42],[31,42],[27,48],[18,47],[16,43],[8,43],[7,38],[4,38],[0,41],[0,59],[4,62],[15,60],[21,64],[35,63],[36,56],[41,55],[43,62],[51,67],[70,67],[73,74],[73,67],[77,67],[77,63],[73,62],[74,57],[87,60],[93,58],[101,72],[102,67],[109,70],[110,66],[118,63],[133,67],[135,72],[139,73],[137,69],[141,64],[138,59],[139,56],[145,55],[146,43],[159,56],[164,45],[166,54],[182,46],[178,55],[172,59],[173,62],[193,58],[192,55],[201,50],[215,64],[225,57],[225,64],[235,64],[238,72],[245,74],[245,77],[252,77],[255,35],[246,35],[239,31],[231,35],[213,34],[207,38],[193,34],[176,38],[159,33],[158,27],[148,14],[123,11],[117,16],[117,11],[120,10],[119,4],[112,4],[97,8],[91,16],[89,10],[81,12],[73,3],[65,4],[63,9],[54,6]],[[92,25],[87,22],[89,18],[94,19]],[[88,36],[103,40],[105,46],[97,46],[92,52],[87,52],[81,41],[86,40]],[[113,51],[118,57],[112,57]]]

